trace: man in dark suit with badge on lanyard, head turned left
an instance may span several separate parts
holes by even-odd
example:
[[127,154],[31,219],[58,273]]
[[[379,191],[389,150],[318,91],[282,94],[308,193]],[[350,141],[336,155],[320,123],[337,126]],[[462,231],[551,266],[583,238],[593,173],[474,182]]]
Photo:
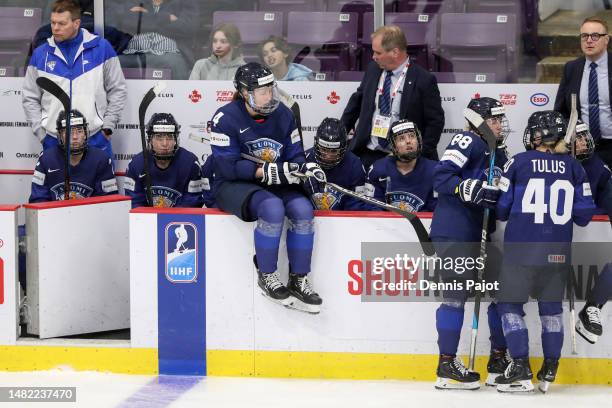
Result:
[[366,168],[391,150],[391,123],[408,119],[423,135],[423,157],[438,160],[437,145],[444,128],[444,111],[436,78],[410,62],[406,37],[397,26],[382,26],[372,34],[374,60],[344,109],[341,121],[355,129],[351,150]]

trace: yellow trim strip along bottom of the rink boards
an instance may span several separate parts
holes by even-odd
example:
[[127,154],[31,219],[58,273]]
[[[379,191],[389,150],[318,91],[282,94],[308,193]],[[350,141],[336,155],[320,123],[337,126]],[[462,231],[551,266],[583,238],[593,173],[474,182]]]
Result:
[[[210,376],[434,381],[437,355],[208,350]],[[484,378],[486,356],[476,359]],[[464,361],[467,358],[464,357]],[[532,358],[535,372],[542,358]],[[157,349],[0,346],[0,371],[73,370],[157,375]],[[612,385],[612,359],[563,358],[559,384]]]

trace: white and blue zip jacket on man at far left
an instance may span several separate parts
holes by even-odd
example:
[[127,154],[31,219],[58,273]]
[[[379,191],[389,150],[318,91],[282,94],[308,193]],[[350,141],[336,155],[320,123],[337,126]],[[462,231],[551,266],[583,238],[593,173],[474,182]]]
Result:
[[23,84],[23,109],[39,140],[57,137],[56,119],[63,110],[60,101],[36,84],[47,77],[70,97],[72,109],[87,119],[91,134],[100,129],[114,130],[127,99],[127,86],[119,58],[103,38],[81,28],[83,42],[72,65],[66,62],[53,37],[34,50]]

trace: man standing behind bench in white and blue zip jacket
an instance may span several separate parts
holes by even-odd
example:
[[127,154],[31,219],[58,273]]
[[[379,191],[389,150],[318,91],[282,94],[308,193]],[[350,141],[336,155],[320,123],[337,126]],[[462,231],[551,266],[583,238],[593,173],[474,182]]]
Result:
[[63,107],[36,84],[39,76],[53,79],[71,97],[72,108],[85,116],[91,132],[89,146],[112,157],[110,138],[125,106],[127,87],[111,45],[80,24],[77,1],[53,4],[53,36],[32,54],[23,84],[23,109],[43,149],[56,146],[55,118]]

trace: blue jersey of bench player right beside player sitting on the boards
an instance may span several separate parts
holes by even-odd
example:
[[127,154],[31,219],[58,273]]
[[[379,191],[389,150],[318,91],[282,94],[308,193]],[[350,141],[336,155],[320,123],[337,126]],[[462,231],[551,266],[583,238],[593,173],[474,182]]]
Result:
[[[316,162],[314,150],[306,151],[306,161]],[[346,152],[342,161],[333,169],[323,169],[327,181],[340,187],[363,194],[365,184],[365,169],[361,159],[352,152]],[[354,197],[347,196],[328,186],[322,192],[311,192],[308,183],[304,183],[307,194],[317,210],[367,211],[368,205]]]

